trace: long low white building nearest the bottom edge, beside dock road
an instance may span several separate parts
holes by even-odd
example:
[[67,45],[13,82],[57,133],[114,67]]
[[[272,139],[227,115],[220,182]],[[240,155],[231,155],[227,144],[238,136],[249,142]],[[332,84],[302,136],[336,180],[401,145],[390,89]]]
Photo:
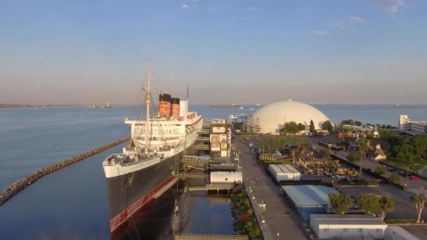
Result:
[[318,239],[384,239],[387,225],[373,215],[312,214],[310,227]]

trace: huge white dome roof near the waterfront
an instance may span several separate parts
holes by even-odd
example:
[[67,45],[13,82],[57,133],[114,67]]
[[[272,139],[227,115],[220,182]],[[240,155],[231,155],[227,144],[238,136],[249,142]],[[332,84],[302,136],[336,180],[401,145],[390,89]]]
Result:
[[284,122],[294,121],[296,124],[306,125],[306,130],[313,120],[315,129],[321,129],[324,121],[329,118],[316,109],[303,102],[282,101],[272,102],[258,109],[253,115],[253,119],[258,119],[261,126],[261,133],[278,134],[283,128]]

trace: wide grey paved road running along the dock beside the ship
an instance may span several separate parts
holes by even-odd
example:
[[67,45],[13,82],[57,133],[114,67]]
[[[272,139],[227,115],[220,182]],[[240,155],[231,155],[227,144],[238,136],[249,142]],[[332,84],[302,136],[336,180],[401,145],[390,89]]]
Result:
[[[256,163],[256,156],[250,151],[248,142],[242,136],[235,135],[235,146],[240,151],[240,165],[244,183],[249,192],[252,206],[261,224],[265,239],[307,239],[303,233],[303,219],[293,206],[284,198],[283,190],[265,172],[265,168]],[[254,199],[252,199],[254,196]],[[265,204],[265,222],[261,222],[261,210],[258,204]],[[277,236],[277,233],[279,234]]]

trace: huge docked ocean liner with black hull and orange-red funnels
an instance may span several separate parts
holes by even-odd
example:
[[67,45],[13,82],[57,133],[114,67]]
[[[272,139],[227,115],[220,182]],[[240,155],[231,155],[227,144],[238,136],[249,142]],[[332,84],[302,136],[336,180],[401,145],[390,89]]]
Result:
[[[125,119],[131,140],[122,153],[103,161],[113,232],[156,194],[177,179],[178,159],[194,145],[202,116],[188,112],[187,100],[159,94],[159,112],[150,115],[151,65],[147,70],[145,119]],[[145,88],[143,88],[145,91]]]

